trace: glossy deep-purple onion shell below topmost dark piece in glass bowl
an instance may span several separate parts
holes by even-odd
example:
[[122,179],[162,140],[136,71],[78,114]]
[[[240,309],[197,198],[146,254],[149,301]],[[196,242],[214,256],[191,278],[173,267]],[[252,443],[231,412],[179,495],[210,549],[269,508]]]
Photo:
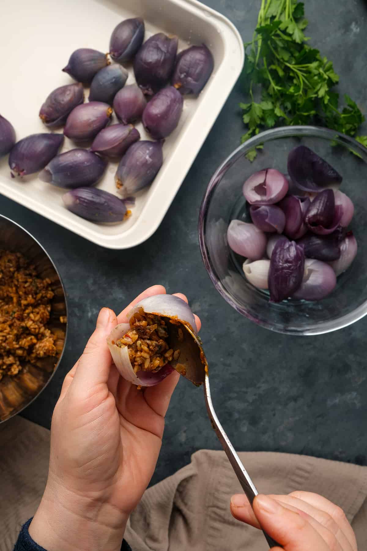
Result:
[[321,191],[305,213],[306,226],[318,235],[331,234],[340,224],[343,215],[341,205],[335,206],[332,190]]

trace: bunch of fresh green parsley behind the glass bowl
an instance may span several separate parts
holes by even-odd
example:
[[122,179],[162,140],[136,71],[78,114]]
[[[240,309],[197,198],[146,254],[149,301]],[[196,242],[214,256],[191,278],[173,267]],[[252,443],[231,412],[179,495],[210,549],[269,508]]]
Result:
[[[339,110],[339,94],[333,90],[339,77],[332,62],[306,44],[307,25],[302,2],[261,0],[253,40],[245,43],[243,80],[251,101],[240,104],[248,125],[242,143],[261,127],[283,124],[316,124],[356,136],[365,120],[348,95]],[[259,89],[261,100],[256,101]],[[367,147],[367,136],[357,140]],[[249,160],[255,156],[255,150],[248,154]]]

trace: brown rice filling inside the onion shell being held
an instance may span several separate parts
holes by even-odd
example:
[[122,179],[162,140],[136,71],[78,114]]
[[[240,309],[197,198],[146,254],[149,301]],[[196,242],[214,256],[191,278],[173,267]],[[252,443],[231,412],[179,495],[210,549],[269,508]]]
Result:
[[[159,371],[164,365],[178,360],[180,350],[169,348],[166,321],[143,308],[129,321],[130,329],[116,342],[120,348],[128,347],[129,360],[134,372]],[[182,329],[180,329],[182,331]]]

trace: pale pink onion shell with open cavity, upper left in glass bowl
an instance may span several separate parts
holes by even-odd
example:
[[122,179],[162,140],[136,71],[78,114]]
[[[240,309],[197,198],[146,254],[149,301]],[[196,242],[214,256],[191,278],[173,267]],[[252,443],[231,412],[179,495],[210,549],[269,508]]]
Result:
[[288,180],[284,174],[275,169],[265,169],[250,176],[242,191],[251,205],[269,205],[283,199],[288,188]]

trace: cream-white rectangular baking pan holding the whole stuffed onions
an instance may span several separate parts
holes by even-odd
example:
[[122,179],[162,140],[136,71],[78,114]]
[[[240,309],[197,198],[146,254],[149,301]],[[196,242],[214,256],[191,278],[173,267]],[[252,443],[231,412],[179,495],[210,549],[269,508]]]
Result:
[[[137,16],[145,20],[145,39],[160,31],[176,34],[179,51],[204,42],[213,53],[215,68],[199,98],[185,97],[179,126],[163,146],[163,166],[151,187],[136,196],[132,216],[116,224],[88,222],[63,207],[64,190],[41,182],[37,175],[24,181],[11,179],[8,158],[0,160],[0,193],[109,249],[139,245],[162,222],[242,69],[238,31],[223,15],[196,0],[19,0],[16,5],[5,2],[1,14],[0,114],[13,123],[17,139],[47,132],[38,116],[40,106],[54,88],[73,82],[61,71],[70,54],[79,47],[107,52],[114,27]],[[133,82],[129,67],[128,84]],[[86,90],[86,100],[88,95]],[[141,123],[137,128],[147,139]],[[63,151],[73,147],[65,139]],[[116,168],[109,163],[98,187],[116,193]]]

